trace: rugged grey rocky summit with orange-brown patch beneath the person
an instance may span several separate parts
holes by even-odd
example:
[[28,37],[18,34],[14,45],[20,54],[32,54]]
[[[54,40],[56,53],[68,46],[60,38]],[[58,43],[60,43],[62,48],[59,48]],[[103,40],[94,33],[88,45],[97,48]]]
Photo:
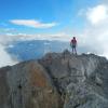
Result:
[[108,60],[66,50],[3,67],[0,108],[108,108]]

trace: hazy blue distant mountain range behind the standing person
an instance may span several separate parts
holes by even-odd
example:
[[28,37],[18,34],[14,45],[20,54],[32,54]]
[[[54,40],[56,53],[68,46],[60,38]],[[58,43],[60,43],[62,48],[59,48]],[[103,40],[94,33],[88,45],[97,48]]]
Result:
[[[15,41],[6,48],[6,51],[19,60],[29,60],[40,58],[49,52],[63,52],[65,49],[71,51],[69,42],[31,40]],[[79,48],[79,52],[86,52],[86,49]]]

